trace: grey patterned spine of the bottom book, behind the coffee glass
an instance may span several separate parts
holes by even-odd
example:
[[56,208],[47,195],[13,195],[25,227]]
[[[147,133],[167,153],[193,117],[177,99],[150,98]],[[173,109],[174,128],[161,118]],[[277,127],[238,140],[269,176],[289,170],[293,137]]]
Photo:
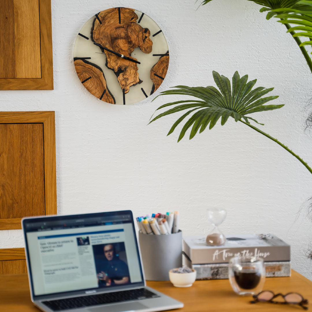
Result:
[[[290,261],[268,261],[264,262],[266,277],[290,276]],[[188,266],[196,271],[196,280],[222,280],[229,278],[228,263],[192,264],[183,255],[183,266]]]

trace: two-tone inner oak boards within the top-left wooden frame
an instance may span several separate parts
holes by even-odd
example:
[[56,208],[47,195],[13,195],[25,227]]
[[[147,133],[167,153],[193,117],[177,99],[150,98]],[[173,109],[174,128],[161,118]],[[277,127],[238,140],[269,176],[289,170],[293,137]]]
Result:
[[[38,0],[2,0],[0,78],[41,78]],[[27,5],[26,5],[27,4]]]

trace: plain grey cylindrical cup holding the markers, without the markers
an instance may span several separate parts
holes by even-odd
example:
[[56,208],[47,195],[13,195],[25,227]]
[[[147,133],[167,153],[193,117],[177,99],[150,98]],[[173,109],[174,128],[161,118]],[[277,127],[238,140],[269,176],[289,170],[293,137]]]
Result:
[[146,280],[169,280],[169,270],[182,266],[182,231],[167,235],[139,232]]

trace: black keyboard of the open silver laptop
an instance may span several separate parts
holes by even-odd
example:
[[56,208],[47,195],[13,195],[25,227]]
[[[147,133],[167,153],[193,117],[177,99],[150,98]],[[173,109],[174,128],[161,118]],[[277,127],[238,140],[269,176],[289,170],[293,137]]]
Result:
[[98,295],[43,301],[42,303],[53,311],[61,311],[89,307],[91,305],[103,305],[105,303],[123,302],[129,300],[141,300],[156,297],[159,296],[145,288],[139,288]]

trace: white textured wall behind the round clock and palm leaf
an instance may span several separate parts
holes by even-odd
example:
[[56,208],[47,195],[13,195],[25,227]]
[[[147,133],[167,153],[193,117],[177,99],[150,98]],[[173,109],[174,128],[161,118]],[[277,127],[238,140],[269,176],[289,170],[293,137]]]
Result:
[[[286,28],[246,0],[214,0],[197,11],[194,2],[52,0],[54,90],[0,91],[0,109],[55,110],[58,213],[179,210],[183,234],[195,235],[209,230],[206,208],[220,205],[228,211],[224,233],[276,234],[291,244],[292,267],[312,280],[305,256],[312,223],[304,209],[297,215],[312,196],[312,175],[298,160],[233,120],[177,143],[178,132],[166,137],[177,116],[147,124],[178,97],[114,106],[90,95],[76,75],[73,48],[84,22],[110,7],[132,7],[152,17],[168,41],[169,71],[156,94],[214,85],[212,70],[257,78],[285,106],[253,117],[312,164],[312,138],[303,131],[312,75]],[[0,248],[23,246],[21,237],[2,231]]]

